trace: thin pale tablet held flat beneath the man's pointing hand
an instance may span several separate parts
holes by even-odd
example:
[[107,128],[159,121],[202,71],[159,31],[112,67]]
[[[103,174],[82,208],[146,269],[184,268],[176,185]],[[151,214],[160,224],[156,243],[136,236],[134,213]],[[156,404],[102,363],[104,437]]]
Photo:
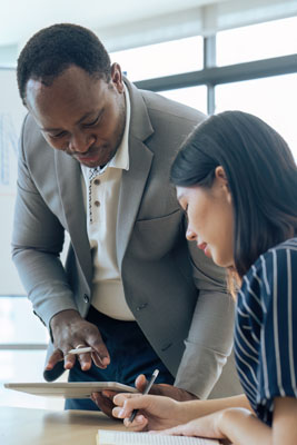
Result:
[[135,387],[117,382],[6,383],[4,387],[34,396],[62,398],[89,398],[91,393],[103,389],[117,393],[138,393]]

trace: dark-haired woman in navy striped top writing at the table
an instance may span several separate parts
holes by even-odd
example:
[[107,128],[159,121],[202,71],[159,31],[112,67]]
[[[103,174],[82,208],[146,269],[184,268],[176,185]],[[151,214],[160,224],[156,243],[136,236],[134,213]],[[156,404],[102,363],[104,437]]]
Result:
[[120,394],[113,415],[135,431],[297,444],[297,168],[289,148],[255,116],[227,111],[184,142],[171,181],[187,238],[239,289],[235,355],[245,394],[184,403]]

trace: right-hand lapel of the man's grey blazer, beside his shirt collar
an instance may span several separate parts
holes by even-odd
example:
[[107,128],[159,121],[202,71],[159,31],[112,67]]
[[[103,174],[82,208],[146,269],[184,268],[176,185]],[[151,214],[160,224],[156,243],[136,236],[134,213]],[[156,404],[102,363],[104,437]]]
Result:
[[154,154],[143,141],[154,132],[141,93],[127,79],[131,102],[129,131],[129,170],[122,171],[117,220],[117,259],[119,268],[127,249]]

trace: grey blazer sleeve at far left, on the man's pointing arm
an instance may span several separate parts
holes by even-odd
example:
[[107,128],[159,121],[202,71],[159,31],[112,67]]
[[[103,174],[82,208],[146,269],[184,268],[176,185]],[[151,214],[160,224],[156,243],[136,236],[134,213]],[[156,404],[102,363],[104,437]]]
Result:
[[55,314],[77,307],[60,260],[65,230],[30,176],[23,149],[24,126],[19,147],[12,259],[34,314],[49,327]]

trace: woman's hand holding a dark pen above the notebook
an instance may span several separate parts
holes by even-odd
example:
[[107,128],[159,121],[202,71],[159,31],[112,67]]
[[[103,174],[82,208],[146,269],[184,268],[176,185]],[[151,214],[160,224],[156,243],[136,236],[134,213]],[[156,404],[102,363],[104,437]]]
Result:
[[[112,409],[112,415],[123,418],[125,426],[130,431],[164,429],[185,422],[182,403],[169,397],[117,394],[113,403],[117,406]],[[138,409],[138,413],[130,423],[129,417],[133,409]]]

